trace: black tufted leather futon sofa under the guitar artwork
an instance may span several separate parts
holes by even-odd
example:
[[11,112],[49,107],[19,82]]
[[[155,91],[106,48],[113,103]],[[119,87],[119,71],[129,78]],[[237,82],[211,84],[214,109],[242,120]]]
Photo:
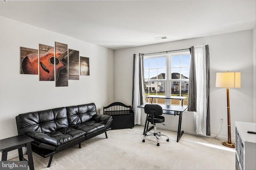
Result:
[[32,151],[44,158],[110,130],[112,116],[98,115],[94,103],[22,113],[16,116],[18,135],[34,139]]

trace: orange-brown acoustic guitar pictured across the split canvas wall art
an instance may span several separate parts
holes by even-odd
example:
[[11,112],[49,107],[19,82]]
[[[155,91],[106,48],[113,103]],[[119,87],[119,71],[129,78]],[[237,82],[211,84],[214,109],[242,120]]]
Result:
[[[58,76],[60,70],[66,67],[66,64],[62,62],[62,59],[68,55],[68,51],[72,51],[69,49],[64,53],[60,53],[56,50],[56,80],[58,80]],[[40,63],[39,63],[39,71],[40,71],[40,81],[54,81],[54,49],[50,49],[45,55],[40,54]],[[24,74],[35,74],[38,72],[38,54],[30,54],[22,60],[21,63],[22,71]]]

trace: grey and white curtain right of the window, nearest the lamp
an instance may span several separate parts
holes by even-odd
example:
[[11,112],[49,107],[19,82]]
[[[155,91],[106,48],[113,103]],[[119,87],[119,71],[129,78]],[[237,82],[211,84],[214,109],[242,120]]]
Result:
[[210,135],[210,63],[209,46],[190,49],[188,111],[194,112],[196,134]]

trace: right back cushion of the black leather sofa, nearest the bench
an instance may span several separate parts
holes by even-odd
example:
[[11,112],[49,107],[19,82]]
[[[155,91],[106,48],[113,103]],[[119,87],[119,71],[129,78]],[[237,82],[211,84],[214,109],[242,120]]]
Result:
[[93,115],[97,114],[96,106],[94,103],[82,104],[78,106],[68,106],[66,109],[70,127],[89,121]]

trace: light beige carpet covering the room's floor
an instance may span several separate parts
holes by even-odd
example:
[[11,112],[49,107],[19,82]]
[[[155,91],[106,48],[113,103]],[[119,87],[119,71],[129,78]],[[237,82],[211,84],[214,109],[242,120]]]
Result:
[[[48,158],[33,152],[36,170],[227,170],[235,169],[235,149],[222,145],[218,139],[184,134],[176,142],[177,133],[158,129],[160,146],[154,136],[143,143],[144,127],[108,131],[78,145],[54,154],[50,168]],[[26,155],[24,156],[26,158]],[[12,160],[18,160],[14,158]]]

